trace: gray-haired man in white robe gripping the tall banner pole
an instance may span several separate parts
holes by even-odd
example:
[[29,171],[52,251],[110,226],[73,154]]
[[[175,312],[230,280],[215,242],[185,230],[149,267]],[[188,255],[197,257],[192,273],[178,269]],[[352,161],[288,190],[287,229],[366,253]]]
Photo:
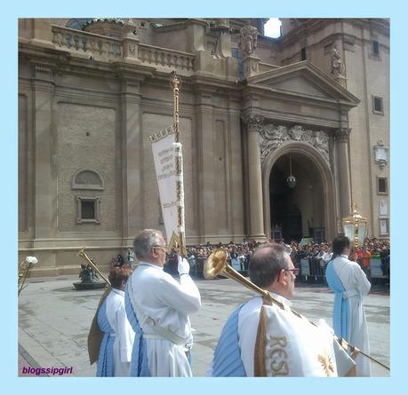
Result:
[[136,332],[131,376],[191,376],[188,314],[200,309],[201,296],[188,262],[179,256],[180,283],[164,273],[167,246],[155,229],[141,231],[133,250],[139,263],[125,292],[126,313]]

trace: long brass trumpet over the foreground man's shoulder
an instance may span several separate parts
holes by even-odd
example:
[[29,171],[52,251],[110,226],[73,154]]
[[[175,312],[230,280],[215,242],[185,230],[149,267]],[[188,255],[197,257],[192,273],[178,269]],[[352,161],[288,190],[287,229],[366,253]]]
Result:
[[[308,320],[304,315],[300,314],[300,312],[296,312],[295,310],[286,307],[284,304],[277,301],[275,297],[271,296],[267,290],[258,287],[251,280],[248,280],[243,275],[236,272],[236,270],[233,267],[228,265],[227,251],[224,248],[215,249],[214,251],[212,251],[212,254],[210,255],[210,257],[208,257],[207,261],[204,264],[203,274],[204,274],[204,278],[207,280],[212,280],[219,274],[225,277],[228,277],[229,279],[236,280],[240,284],[244,285],[244,287],[250,288],[256,293],[260,294],[260,296],[262,296],[265,300],[267,300],[271,304],[276,304],[281,309],[286,310],[288,312],[292,312],[300,319]],[[310,321],[310,320],[308,320],[308,322],[316,327],[315,322]],[[379,360],[372,358],[370,355],[366,354],[365,352],[362,352],[356,346],[348,344],[346,340],[342,339],[339,336],[335,336],[335,335],[333,336],[345,350],[348,349],[351,352],[360,353],[361,355],[364,355],[364,357],[371,359],[373,362],[378,363],[381,367],[384,367],[389,370],[389,367],[387,365],[384,365]]]

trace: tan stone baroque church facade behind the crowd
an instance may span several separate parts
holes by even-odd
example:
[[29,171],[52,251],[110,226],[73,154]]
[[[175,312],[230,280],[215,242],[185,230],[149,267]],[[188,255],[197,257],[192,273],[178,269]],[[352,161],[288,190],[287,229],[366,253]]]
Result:
[[19,20],[19,258],[102,269],[164,231],[148,137],[180,77],[187,244],[389,237],[389,20]]

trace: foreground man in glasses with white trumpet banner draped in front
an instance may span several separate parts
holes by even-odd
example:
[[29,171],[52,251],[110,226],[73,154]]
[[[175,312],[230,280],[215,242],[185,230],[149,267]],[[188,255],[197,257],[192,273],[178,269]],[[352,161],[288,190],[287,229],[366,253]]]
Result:
[[[268,290],[280,306],[254,296],[232,312],[207,375],[325,376],[348,372],[353,361],[340,344],[336,347],[332,329],[324,322],[313,326],[290,311],[297,274],[299,269],[284,244],[266,243],[254,250],[250,279]],[[332,363],[338,355],[339,369]]]

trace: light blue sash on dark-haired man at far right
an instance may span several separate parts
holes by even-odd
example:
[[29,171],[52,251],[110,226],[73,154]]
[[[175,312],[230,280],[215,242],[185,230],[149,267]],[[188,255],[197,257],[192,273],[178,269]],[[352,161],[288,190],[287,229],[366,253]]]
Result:
[[350,341],[348,333],[349,322],[349,304],[348,299],[343,297],[346,289],[343,287],[339,276],[334,270],[333,261],[327,264],[326,280],[329,287],[334,292],[334,307],[333,307],[333,329],[337,336]]

